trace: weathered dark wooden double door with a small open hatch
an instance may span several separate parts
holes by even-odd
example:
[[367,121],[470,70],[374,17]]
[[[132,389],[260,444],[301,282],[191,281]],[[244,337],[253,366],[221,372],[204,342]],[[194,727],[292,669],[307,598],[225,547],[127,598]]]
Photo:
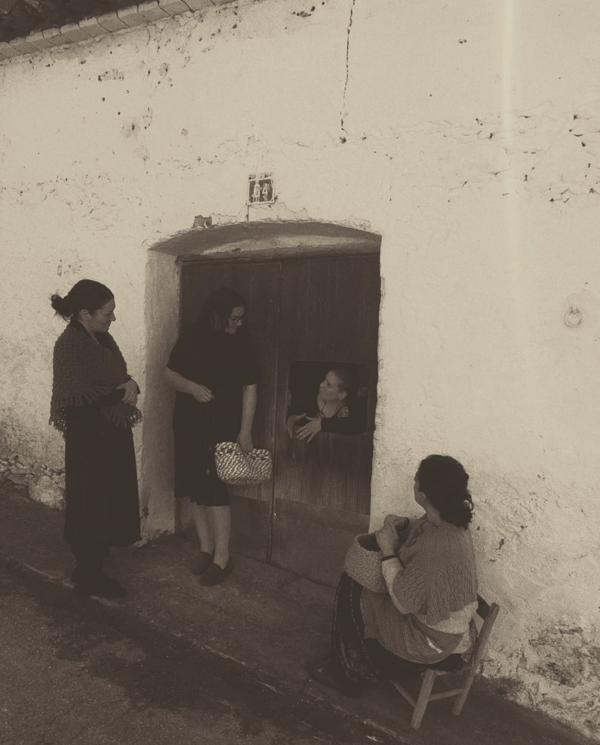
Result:
[[[274,476],[230,487],[232,550],[333,585],[351,536],[368,527],[379,255],[184,261],[181,279],[182,323],[197,319],[216,288],[242,294],[261,359],[253,440],[272,452]],[[336,364],[360,378],[364,431],[290,438],[290,376],[307,370],[315,378]]]

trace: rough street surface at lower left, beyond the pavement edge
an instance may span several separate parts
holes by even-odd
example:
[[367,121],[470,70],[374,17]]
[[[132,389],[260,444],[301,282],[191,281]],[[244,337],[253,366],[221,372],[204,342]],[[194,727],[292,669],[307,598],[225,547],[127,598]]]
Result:
[[226,659],[118,626],[109,607],[0,561],[3,745],[386,741]]

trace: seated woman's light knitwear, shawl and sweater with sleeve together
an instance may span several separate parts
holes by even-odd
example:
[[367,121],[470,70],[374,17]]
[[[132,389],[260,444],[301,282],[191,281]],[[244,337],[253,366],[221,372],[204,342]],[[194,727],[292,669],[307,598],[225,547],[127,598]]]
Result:
[[365,638],[412,662],[462,651],[476,609],[475,555],[469,530],[419,519],[398,559],[384,562],[389,594],[363,590]]

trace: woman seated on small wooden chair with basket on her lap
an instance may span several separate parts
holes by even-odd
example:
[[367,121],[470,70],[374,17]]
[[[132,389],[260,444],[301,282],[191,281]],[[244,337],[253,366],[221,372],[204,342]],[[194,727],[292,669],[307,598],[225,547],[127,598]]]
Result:
[[414,487],[425,514],[390,516],[353,543],[336,592],[331,653],[308,665],[314,679],[357,696],[367,681],[462,667],[477,609],[468,479],[454,458],[428,456]]

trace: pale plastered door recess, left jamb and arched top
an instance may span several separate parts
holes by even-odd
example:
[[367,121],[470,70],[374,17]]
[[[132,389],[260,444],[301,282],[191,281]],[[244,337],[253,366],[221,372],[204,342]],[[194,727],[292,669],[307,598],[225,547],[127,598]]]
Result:
[[379,256],[381,239],[381,235],[368,229],[331,222],[244,221],[188,229],[149,247],[144,290],[145,413],[139,469],[144,536],[173,533],[176,527],[171,428],[174,394],[163,375],[170,349],[179,335],[183,264],[227,259]]

